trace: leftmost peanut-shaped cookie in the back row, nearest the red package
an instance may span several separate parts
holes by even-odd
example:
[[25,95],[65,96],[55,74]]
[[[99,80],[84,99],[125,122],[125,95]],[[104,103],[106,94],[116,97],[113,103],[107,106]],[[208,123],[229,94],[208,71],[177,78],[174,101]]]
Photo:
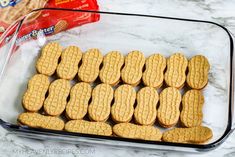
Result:
[[54,74],[61,53],[62,47],[58,43],[51,42],[45,45],[42,49],[41,56],[36,63],[37,71],[48,76]]

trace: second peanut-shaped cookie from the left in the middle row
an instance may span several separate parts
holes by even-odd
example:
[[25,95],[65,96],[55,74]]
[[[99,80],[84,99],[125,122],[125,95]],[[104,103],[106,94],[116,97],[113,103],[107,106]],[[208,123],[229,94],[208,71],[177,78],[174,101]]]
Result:
[[51,116],[60,115],[67,104],[70,82],[63,79],[55,80],[49,86],[49,95],[44,101],[44,111]]

